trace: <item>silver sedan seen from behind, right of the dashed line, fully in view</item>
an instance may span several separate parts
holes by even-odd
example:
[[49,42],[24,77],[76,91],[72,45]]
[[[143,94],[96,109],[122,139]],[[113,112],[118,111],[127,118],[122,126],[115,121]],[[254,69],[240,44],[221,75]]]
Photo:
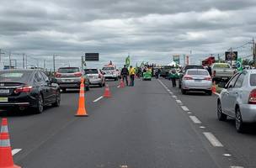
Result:
[[183,77],[181,92],[185,94],[189,91],[203,91],[211,95],[211,87],[211,76],[207,70],[189,69],[185,72]]

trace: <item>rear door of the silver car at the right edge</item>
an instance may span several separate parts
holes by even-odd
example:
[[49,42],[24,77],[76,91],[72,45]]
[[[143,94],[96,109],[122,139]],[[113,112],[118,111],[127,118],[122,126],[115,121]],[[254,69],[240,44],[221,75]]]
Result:
[[232,117],[235,117],[236,104],[237,104],[237,102],[240,102],[240,98],[242,97],[242,94],[243,94],[242,86],[243,86],[244,77],[245,77],[245,74],[240,73],[234,87],[232,88],[232,91],[229,93],[230,107],[228,107],[228,108],[229,108],[229,111],[230,111]]

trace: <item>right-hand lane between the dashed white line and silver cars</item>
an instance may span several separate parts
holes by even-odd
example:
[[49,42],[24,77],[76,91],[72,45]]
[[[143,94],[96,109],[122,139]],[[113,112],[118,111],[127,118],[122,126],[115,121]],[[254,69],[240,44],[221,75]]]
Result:
[[179,88],[173,88],[171,81],[161,80],[168,89],[177,96],[191,113],[197,116],[205,130],[211,131],[224,145],[232,159],[237,160],[244,167],[256,167],[256,131],[255,124],[249,125],[245,134],[238,134],[235,122],[229,118],[226,122],[218,121],[216,117],[217,96],[207,96],[204,93],[189,93],[182,95]]

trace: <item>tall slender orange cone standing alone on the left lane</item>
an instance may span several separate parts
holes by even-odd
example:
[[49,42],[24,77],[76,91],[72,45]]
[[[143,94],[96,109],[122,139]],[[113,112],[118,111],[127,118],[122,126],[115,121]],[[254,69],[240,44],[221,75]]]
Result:
[[77,110],[77,117],[88,117],[88,113],[86,112],[85,109],[85,98],[84,98],[84,84],[83,84],[84,79],[81,79],[81,84],[80,84],[80,92],[79,92],[79,102],[78,102],[78,110]]

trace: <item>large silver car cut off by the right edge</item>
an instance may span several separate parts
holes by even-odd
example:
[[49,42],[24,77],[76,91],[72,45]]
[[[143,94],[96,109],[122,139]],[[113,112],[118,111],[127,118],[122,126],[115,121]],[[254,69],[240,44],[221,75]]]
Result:
[[237,72],[222,89],[217,99],[217,117],[236,119],[237,132],[244,131],[244,123],[256,122],[256,71]]

